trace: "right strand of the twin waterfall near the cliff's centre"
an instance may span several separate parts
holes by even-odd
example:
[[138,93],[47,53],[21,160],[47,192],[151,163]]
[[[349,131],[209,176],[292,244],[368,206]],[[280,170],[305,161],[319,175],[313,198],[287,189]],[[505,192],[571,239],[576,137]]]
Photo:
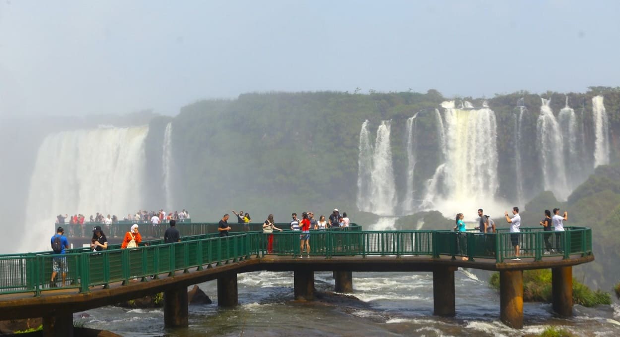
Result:
[[394,183],[392,146],[389,139],[391,124],[391,121],[381,121],[374,141],[370,201],[371,212],[379,215],[394,214],[396,204],[396,183]]

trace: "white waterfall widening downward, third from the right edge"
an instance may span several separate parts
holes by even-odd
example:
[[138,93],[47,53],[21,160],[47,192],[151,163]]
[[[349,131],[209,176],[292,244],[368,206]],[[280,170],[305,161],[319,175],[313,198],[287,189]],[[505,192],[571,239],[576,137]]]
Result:
[[541,114],[536,121],[536,144],[541,156],[544,189],[552,191],[559,200],[570,194],[564,168],[564,141],[562,130],[549,107],[549,100],[542,99]]

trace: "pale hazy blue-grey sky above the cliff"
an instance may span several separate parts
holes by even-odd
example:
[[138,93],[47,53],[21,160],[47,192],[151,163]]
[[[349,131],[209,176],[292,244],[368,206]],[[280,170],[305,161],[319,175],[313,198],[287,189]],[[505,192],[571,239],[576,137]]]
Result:
[[620,82],[620,1],[0,0],[0,113],[338,90],[492,97]]

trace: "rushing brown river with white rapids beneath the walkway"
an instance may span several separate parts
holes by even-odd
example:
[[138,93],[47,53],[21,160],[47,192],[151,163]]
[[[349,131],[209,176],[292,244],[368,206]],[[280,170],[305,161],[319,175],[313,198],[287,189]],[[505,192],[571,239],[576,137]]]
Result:
[[331,294],[332,273],[314,274],[321,299],[293,300],[293,272],[239,274],[239,307],[219,309],[217,282],[199,284],[213,300],[190,305],[188,328],[164,328],[162,309],[102,307],[75,322],[122,336],[523,336],[546,326],[577,336],[620,336],[620,305],[573,307],[574,317],[557,318],[551,304],[526,303],[524,328],[499,320],[499,295],[489,274],[459,268],[455,273],[456,317],[433,316],[432,273],[353,273],[352,295]]

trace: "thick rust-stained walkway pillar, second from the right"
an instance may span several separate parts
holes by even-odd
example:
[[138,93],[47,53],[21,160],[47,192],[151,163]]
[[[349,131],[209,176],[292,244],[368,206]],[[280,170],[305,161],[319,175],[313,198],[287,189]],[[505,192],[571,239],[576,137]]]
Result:
[[511,328],[523,328],[523,271],[500,271],[500,319]]

